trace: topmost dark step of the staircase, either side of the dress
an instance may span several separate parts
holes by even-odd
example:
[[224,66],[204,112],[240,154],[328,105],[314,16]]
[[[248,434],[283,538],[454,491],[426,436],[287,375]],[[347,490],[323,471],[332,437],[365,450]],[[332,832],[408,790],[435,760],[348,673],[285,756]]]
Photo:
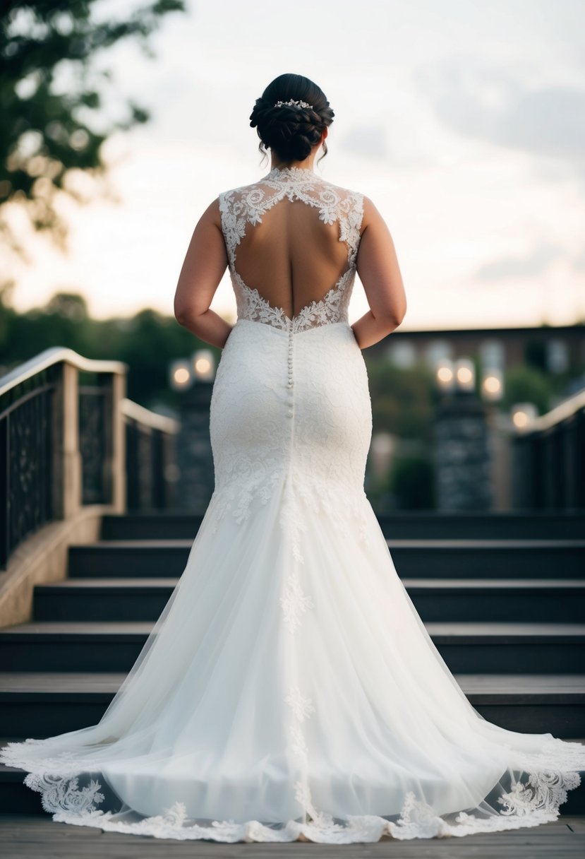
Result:
[[[546,512],[376,511],[392,539],[582,539],[585,515]],[[202,516],[181,511],[106,515],[101,539],[194,539]]]

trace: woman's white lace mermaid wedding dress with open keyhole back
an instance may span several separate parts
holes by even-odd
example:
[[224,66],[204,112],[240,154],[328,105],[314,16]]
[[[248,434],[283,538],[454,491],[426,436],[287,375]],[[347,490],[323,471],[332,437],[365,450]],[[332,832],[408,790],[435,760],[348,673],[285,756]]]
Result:
[[[341,279],[293,318],[236,269],[285,199],[347,245]],[[274,168],[219,201],[238,320],[184,573],[100,722],[0,759],[54,820],[156,838],[345,844],[556,819],[585,746],[469,704],[365,496],[371,400],[347,321],[363,196]]]

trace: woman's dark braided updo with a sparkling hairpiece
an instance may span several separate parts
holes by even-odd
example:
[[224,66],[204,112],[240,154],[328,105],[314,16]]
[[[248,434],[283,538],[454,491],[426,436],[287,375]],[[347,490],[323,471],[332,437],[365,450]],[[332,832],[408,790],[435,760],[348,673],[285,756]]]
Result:
[[[277,101],[306,101],[312,107],[275,107]],[[256,128],[258,149],[266,155],[272,149],[281,161],[304,161],[318,143],[323,129],[331,125],[335,113],[323,89],[302,75],[279,75],[256,99],[250,113],[250,126]],[[327,143],[323,141],[323,155]],[[319,161],[321,161],[319,158]]]

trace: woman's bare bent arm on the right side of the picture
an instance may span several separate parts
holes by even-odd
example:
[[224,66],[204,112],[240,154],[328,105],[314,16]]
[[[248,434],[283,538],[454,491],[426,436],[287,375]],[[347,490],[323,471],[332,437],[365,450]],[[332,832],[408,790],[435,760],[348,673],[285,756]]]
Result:
[[382,215],[364,198],[365,224],[359,240],[357,272],[370,310],[353,323],[360,349],[382,340],[397,328],[407,312],[407,296],[394,241]]

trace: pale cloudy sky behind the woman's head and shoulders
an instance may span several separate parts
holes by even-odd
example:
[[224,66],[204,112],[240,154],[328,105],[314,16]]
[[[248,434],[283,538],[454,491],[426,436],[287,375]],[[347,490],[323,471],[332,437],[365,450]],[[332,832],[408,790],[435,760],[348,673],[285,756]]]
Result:
[[[106,144],[112,199],[61,201],[68,253],[14,213],[31,256],[10,263],[17,309],[61,290],[100,319],[172,315],[202,212],[268,172],[250,112],[292,71],[335,110],[317,173],[365,193],[389,226],[402,330],[585,320],[582,0],[187,3],[154,34],[153,59],[130,42],[100,56],[115,82],[107,113],[131,97],[153,119]],[[235,319],[227,272],[211,307]],[[356,278],[350,322],[366,310]]]

